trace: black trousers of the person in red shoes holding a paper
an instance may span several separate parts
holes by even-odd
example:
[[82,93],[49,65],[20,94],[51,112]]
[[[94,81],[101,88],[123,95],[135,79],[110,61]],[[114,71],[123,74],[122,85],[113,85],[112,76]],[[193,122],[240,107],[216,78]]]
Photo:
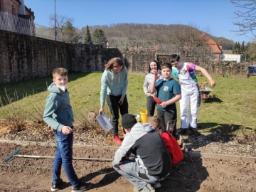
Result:
[[111,124],[112,134],[118,135],[118,119],[119,119],[119,110],[121,115],[128,113],[128,101],[127,96],[124,96],[124,102],[120,105],[118,102],[121,99],[121,95],[114,96],[114,95],[107,95],[107,105],[110,107],[111,112]]

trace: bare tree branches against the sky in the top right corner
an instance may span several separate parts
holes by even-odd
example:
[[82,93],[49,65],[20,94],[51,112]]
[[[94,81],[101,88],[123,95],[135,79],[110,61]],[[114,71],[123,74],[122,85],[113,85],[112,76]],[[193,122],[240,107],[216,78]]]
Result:
[[233,22],[234,25],[238,26],[238,35],[246,35],[252,33],[252,36],[256,37],[254,33],[256,29],[256,1],[255,0],[230,0],[231,3],[235,4],[236,7],[242,8],[245,11],[235,11],[235,18],[240,18],[242,21]]

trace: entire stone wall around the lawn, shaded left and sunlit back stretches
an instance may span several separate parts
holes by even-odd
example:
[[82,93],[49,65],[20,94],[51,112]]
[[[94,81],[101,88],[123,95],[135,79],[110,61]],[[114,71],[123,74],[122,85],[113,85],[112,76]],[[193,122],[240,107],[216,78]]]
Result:
[[[69,44],[0,30],[0,83],[49,76],[53,68],[63,67],[83,73],[103,71],[108,60],[120,57],[129,73],[147,73],[151,60],[169,62],[170,55],[153,50],[102,48],[95,45]],[[246,76],[249,63],[182,58],[200,65],[210,75]]]

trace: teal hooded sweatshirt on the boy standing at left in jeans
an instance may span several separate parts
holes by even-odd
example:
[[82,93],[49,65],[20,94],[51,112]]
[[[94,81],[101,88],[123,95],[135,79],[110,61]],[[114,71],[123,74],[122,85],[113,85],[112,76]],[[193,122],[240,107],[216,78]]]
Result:
[[50,127],[61,132],[64,126],[71,127],[74,122],[69,93],[68,90],[61,92],[54,83],[50,84],[48,91],[50,95],[46,98],[43,120]]

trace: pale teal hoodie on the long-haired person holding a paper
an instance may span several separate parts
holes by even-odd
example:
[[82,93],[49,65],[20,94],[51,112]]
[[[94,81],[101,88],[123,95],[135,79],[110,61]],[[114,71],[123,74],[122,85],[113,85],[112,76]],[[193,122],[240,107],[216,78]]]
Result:
[[124,66],[119,73],[112,70],[105,70],[101,78],[100,106],[104,107],[106,95],[122,95],[124,98],[127,92],[128,77],[127,68]]

